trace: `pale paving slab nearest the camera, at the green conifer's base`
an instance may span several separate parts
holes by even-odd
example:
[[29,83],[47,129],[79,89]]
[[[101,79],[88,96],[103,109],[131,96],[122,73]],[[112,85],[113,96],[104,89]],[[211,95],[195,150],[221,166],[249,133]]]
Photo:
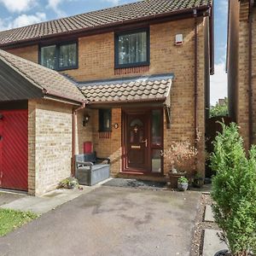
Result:
[[220,230],[204,230],[203,256],[214,256],[220,250],[228,249],[224,241],[220,241]]

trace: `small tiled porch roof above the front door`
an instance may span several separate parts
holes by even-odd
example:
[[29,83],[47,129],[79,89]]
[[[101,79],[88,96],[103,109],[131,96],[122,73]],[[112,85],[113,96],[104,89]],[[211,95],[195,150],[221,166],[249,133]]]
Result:
[[79,84],[89,103],[160,102],[170,94],[173,74]]

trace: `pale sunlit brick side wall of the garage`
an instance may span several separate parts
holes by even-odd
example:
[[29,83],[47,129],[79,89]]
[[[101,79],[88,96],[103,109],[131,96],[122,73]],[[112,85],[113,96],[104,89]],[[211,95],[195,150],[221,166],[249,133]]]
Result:
[[55,189],[71,173],[72,107],[51,101],[29,101],[29,194]]

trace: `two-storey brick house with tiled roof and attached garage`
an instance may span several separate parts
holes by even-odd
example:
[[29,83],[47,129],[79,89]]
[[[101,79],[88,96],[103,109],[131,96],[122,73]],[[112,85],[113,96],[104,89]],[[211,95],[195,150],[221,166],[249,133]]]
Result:
[[[21,189],[52,189],[88,141],[111,159],[113,176],[161,180],[170,169],[161,151],[194,143],[198,131],[204,173],[211,1],[142,1],[46,21],[0,32],[0,48],[0,125],[24,121],[23,137],[3,136],[0,151],[19,143],[9,158],[0,154],[0,167],[24,161],[22,175],[15,167],[7,178],[22,178]],[[0,187],[20,189],[4,185],[4,168]]]

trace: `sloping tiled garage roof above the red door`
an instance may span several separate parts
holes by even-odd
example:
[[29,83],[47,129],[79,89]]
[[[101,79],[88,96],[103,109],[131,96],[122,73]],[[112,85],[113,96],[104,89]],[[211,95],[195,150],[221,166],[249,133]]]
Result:
[[[9,76],[9,79],[11,79],[11,73],[15,73],[17,79],[21,76],[27,81],[26,90],[24,86],[22,87],[21,83],[12,85],[13,88],[7,88],[7,85],[2,84],[0,92],[3,90],[3,96],[6,100],[20,99],[21,90],[24,96],[26,96],[29,95],[32,90],[36,89],[41,91],[44,95],[57,96],[76,102],[82,102],[84,100],[84,96],[79,91],[76,84],[54,70],[38,65],[32,61],[26,61],[2,49],[0,49],[0,64],[1,63],[9,68],[4,74],[5,76]],[[2,77],[1,72],[0,79]],[[1,100],[2,99],[0,99],[0,101]]]

